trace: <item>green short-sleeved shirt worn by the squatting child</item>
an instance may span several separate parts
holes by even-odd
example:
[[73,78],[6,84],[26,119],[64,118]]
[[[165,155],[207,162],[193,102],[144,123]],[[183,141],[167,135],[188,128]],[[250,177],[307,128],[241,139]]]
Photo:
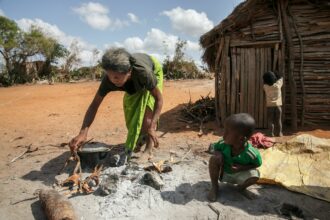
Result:
[[213,144],[214,150],[220,151],[224,158],[224,172],[232,173],[231,166],[233,164],[256,165],[261,166],[262,160],[259,151],[249,142],[245,144],[244,151],[237,156],[232,156],[231,146],[225,144],[223,140]]

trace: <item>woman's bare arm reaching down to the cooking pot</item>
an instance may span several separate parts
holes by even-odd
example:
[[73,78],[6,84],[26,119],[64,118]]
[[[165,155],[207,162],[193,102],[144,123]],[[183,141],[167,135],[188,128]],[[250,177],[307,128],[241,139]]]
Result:
[[75,138],[73,138],[69,143],[71,151],[77,150],[81,146],[81,144],[86,141],[88,129],[93,123],[97,110],[100,104],[102,103],[102,101],[103,101],[103,97],[100,96],[98,93],[96,93],[92,103],[89,105],[86,111],[84,121],[81,126],[79,134]]

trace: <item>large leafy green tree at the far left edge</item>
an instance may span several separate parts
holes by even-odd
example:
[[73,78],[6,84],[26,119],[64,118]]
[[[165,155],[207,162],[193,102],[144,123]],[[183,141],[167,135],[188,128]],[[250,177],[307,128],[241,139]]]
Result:
[[[51,65],[66,56],[68,51],[36,26],[23,32],[14,21],[0,16],[0,53],[6,66],[6,72],[0,75],[0,83],[11,85],[31,81],[36,76],[49,76]],[[26,63],[38,56],[44,60],[44,65],[36,75],[30,76]]]

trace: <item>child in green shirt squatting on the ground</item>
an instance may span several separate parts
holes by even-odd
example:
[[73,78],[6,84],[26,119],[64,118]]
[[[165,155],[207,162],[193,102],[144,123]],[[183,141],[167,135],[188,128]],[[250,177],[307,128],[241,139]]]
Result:
[[214,202],[219,193],[218,180],[237,184],[245,189],[259,179],[256,169],[262,163],[260,153],[248,143],[255,121],[249,114],[234,114],[225,120],[223,140],[211,145],[214,155],[210,158],[209,172],[212,188],[208,198]]

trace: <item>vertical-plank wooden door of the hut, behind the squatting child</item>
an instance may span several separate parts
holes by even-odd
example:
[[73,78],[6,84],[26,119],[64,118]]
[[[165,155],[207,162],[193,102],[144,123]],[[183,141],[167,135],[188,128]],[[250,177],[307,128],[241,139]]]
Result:
[[226,87],[226,117],[246,112],[255,118],[258,128],[267,128],[262,75],[273,69],[272,49],[230,48],[231,65],[226,69],[227,82],[222,85]]

